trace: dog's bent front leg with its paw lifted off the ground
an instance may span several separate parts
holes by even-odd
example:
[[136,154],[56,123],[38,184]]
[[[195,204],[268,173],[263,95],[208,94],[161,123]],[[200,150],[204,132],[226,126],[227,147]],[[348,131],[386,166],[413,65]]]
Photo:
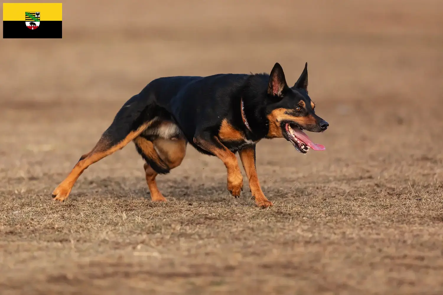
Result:
[[194,143],[202,149],[213,153],[223,161],[228,172],[228,191],[234,197],[240,197],[240,192],[243,191],[243,176],[241,175],[240,167],[238,167],[238,161],[235,154],[225,147],[217,137],[211,137],[210,134],[194,136]]

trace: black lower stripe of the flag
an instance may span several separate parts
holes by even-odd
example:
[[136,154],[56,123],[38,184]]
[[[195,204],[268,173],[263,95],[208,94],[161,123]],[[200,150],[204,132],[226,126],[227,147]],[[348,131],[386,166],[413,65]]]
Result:
[[40,22],[35,30],[28,29],[23,20],[3,21],[3,38],[62,38],[62,21]]

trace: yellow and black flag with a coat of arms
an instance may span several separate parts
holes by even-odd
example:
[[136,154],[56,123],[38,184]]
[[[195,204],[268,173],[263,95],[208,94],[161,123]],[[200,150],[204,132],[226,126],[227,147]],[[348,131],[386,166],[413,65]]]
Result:
[[4,3],[3,38],[62,38],[62,4]]

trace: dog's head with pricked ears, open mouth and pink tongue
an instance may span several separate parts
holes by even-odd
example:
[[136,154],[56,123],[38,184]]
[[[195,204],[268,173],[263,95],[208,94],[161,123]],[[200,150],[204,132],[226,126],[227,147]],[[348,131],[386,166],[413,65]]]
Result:
[[269,121],[268,138],[286,138],[300,153],[307,153],[310,148],[325,149],[311,142],[303,132],[323,132],[329,126],[315,114],[315,103],[308,96],[307,63],[292,87],[286,83],[281,65],[274,65],[269,75],[266,114]]

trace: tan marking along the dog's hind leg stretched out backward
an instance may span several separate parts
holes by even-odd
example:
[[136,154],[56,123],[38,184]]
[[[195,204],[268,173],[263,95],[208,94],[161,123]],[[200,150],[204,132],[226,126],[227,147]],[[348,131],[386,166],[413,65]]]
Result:
[[105,148],[106,138],[102,137],[97,142],[97,145],[94,147],[94,149],[91,152],[87,153],[87,156],[84,159],[78,161],[78,163],[74,166],[66,179],[58,185],[54,192],[52,192],[52,195],[55,196],[54,200],[60,202],[64,201],[69,196],[72,187],[74,186],[78,177],[82,175],[83,171],[85,171],[86,168],[88,168],[93,163],[100,161],[104,157],[116,152],[117,150],[122,149],[134,138],[136,138],[141,132],[143,132],[143,130],[145,130],[149,126],[149,124],[150,122],[145,123],[137,130],[130,132],[128,136],[126,136],[126,138],[124,138],[121,142],[110,148]]

